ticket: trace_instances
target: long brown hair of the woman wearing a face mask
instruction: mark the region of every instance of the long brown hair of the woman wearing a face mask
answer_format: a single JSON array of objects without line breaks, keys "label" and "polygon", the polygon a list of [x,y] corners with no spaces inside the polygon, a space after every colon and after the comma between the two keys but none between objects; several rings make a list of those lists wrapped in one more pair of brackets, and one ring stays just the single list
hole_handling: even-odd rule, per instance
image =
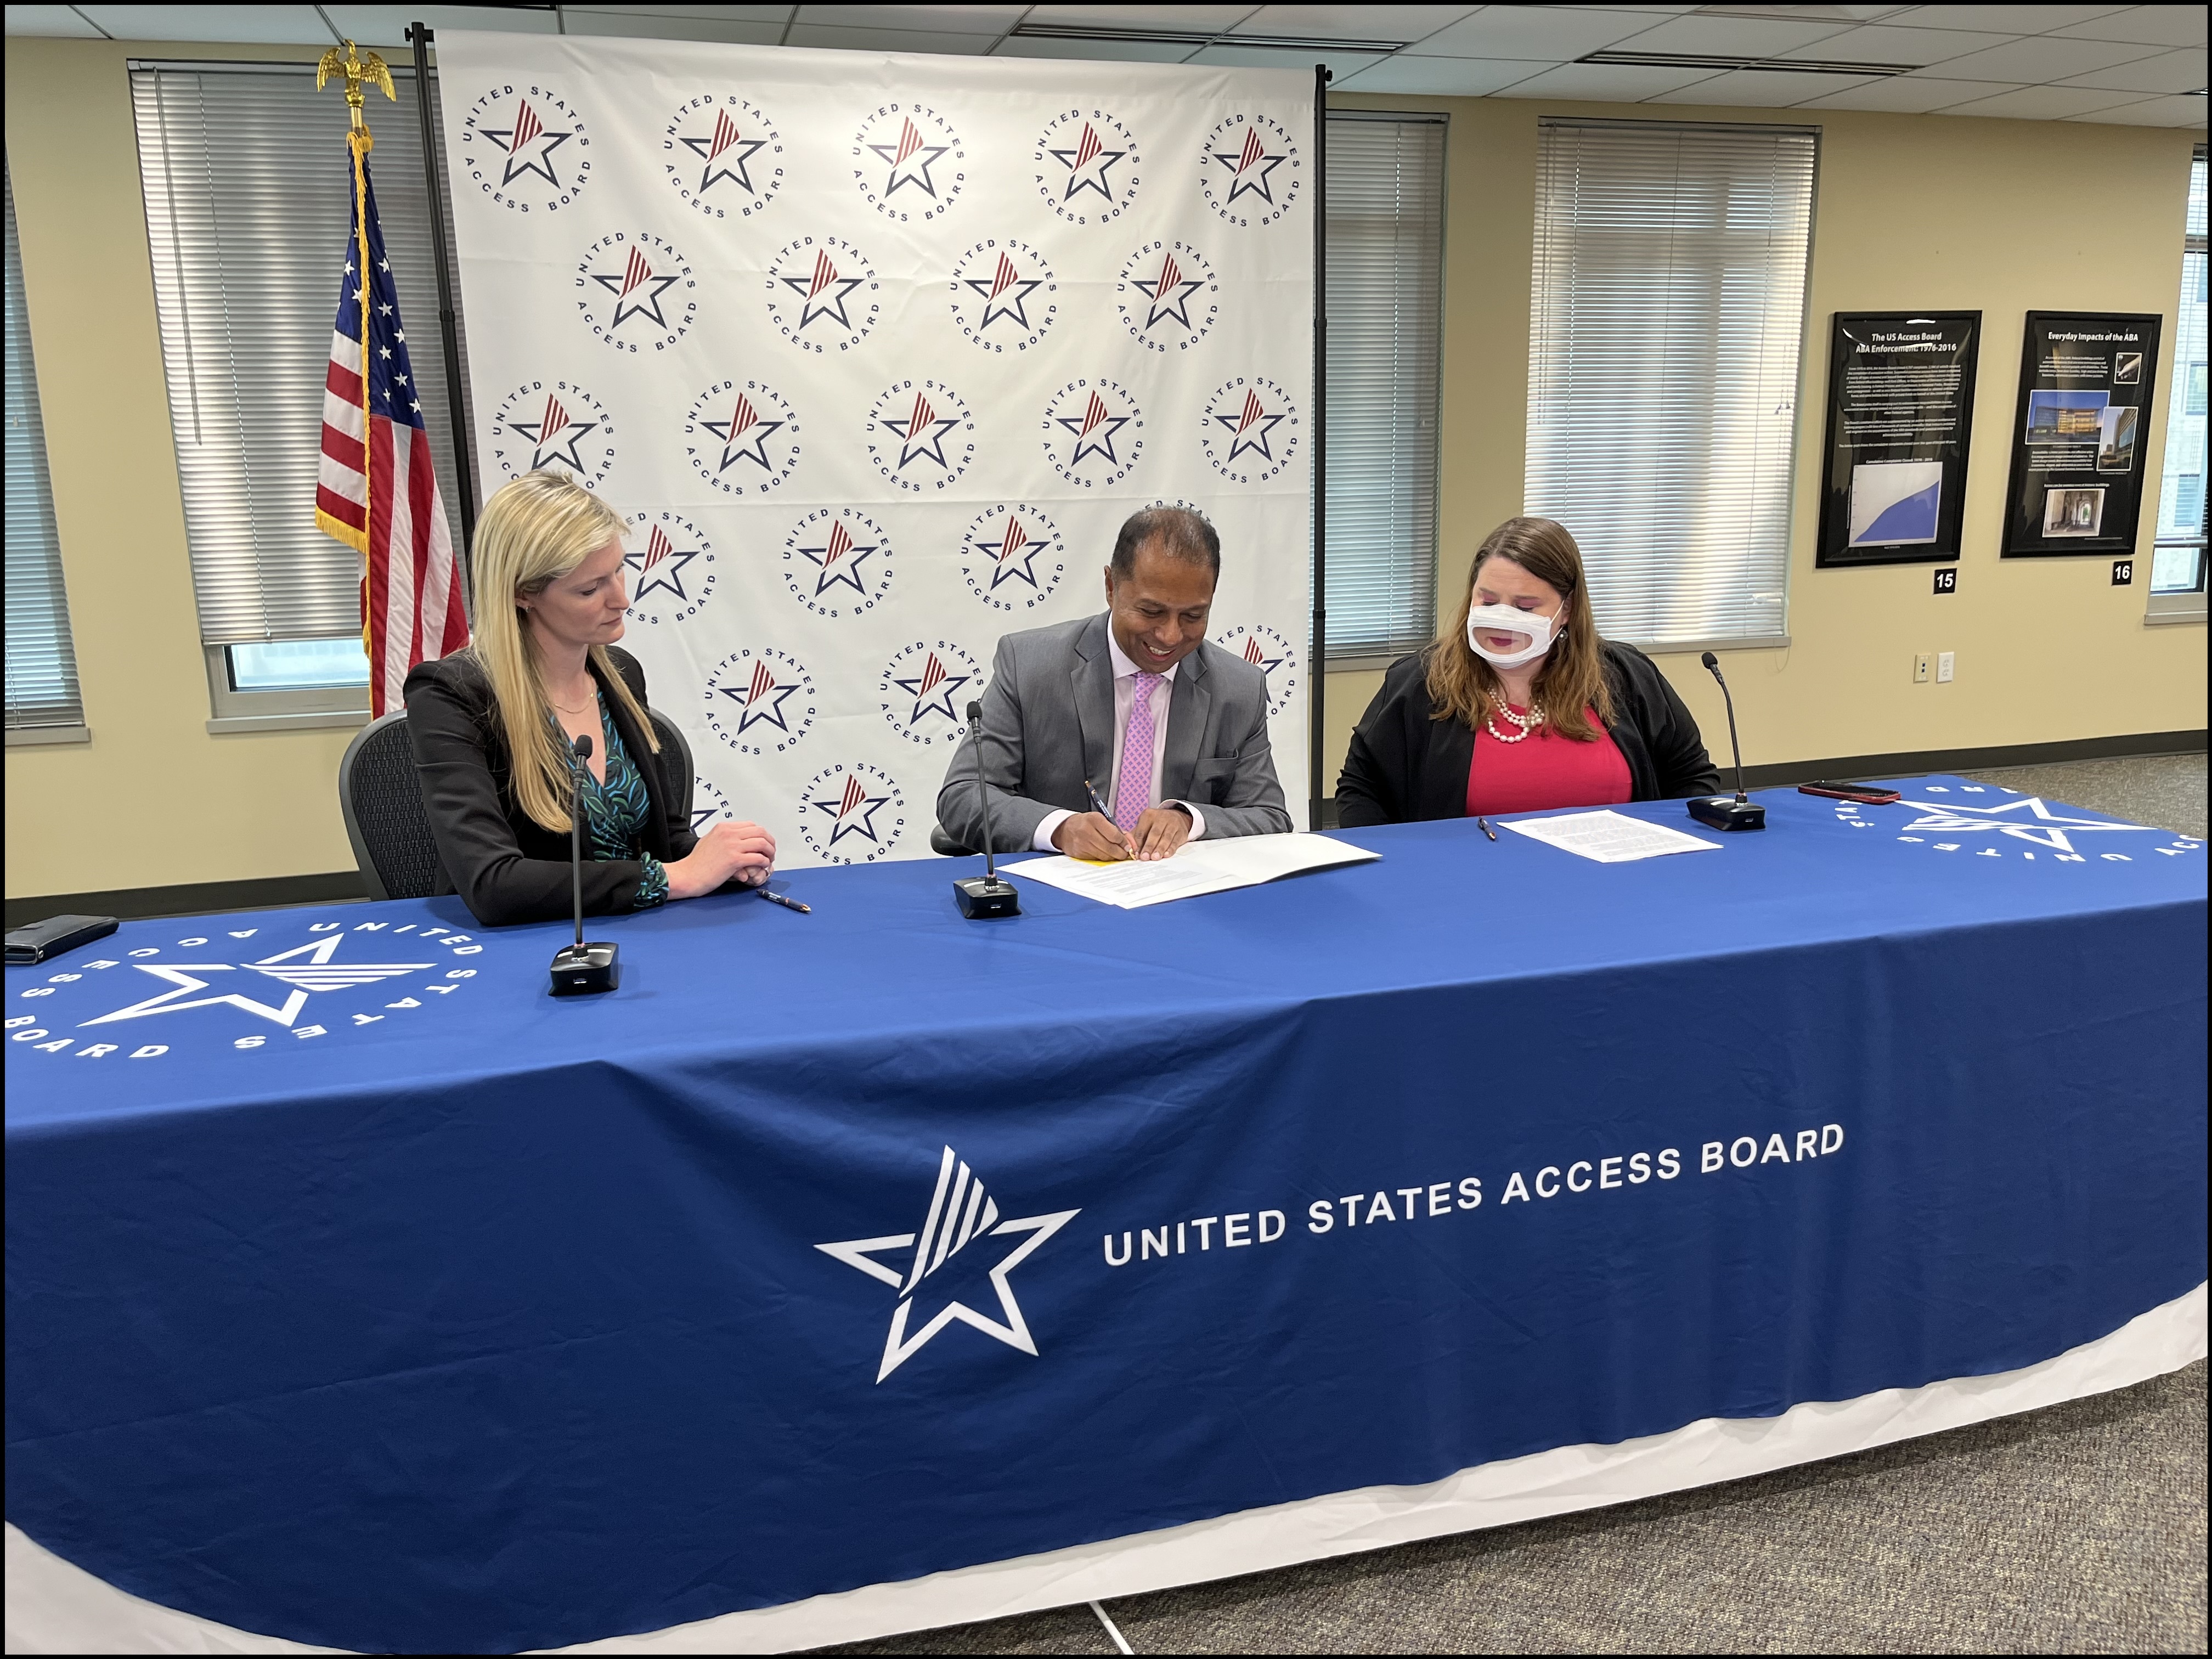
[{"label": "long brown hair of the woman wearing a face mask", "polygon": [[1513,560],[1537,582],[1548,584],[1566,606],[1557,617],[1551,650],[1535,670],[1535,699],[1544,703],[1544,723],[1559,737],[1595,743],[1588,710],[1613,717],[1613,692],[1606,688],[1604,650],[1597,622],[1590,617],[1590,591],[1582,580],[1582,549],[1564,524],[1548,518],[1509,518],[1475,549],[1467,568],[1467,593],[1451,624],[1429,646],[1429,719],[1455,719],[1480,726],[1502,701],[1498,670],[1467,644],[1467,613],[1475,606],[1475,582],[1491,560]]}]

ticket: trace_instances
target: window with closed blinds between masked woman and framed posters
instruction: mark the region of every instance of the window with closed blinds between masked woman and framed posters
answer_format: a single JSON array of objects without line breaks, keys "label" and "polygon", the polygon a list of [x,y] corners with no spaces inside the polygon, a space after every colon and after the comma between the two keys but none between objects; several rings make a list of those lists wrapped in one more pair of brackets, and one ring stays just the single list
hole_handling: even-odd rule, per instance
[{"label": "window with closed blinds between masked woman and framed posters", "polygon": [[1801,128],[1542,124],[1524,500],[1615,639],[1787,644],[1816,157]]}]

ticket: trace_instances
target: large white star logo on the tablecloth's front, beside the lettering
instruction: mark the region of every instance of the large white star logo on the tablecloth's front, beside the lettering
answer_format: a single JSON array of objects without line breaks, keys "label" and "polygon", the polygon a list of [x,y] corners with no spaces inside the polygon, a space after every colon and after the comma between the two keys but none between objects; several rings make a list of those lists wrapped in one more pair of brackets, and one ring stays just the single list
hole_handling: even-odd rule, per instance
[{"label": "large white star logo on the tablecloth's front, beside the lettering", "polygon": [[[891,1232],[880,1239],[843,1239],[814,1248],[896,1292],[898,1301],[891,1305],[891,1327],[883,1338],[883,1360],[876,1369],[876,1380],[883,1383],[891,1371],[920,1354],[931,1338],[956,1323],[1035,1356],[1037,1338],[1022,1316],[1020,1301],[1015,1301],[1013,1270],[1037,1254],[1077,1214],[1082,1210],[1002,1219],[998,1199],[984,1192],[982,1181],[967,1161],[947,1146],[938,1161],[936,1188],[929,1194],[929,1208],[922,1214],[918,1232]],[[956,1296],[933,1314],[927,1314],[918,1332],[907,1334],[914,1321],[916,1292],[931,1274],[942,1272],[964,1250],[1002,1250],[1004,1245],[991,1241],[1011,1239],[1020,1239],[1020,1243],[1006,1250],[987,1276],[998,1298],[998,1318],[969,1307]],[[878,1256],[887,1256],[889,1261],[878,1261]]]}]

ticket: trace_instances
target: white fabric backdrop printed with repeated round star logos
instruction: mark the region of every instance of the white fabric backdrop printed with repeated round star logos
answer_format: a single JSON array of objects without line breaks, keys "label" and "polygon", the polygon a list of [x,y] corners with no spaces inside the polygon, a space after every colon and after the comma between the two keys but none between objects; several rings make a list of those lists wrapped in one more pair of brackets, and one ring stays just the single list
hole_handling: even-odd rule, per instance
[{"label": "white fabric backdrop printed with repeated round star logos", "polygon": [[927,856],[998,637],[1170,502],[1303,823],[1310,77],[445,31],[438,75],[482,489],[630,524],[701,821]]}]

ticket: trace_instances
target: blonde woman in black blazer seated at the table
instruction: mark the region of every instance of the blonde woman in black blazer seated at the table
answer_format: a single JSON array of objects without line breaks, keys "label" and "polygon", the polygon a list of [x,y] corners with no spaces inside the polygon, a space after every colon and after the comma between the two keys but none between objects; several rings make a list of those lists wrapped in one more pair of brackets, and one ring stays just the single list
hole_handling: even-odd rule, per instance
[{"label": "blonde woman in black blazer seated at the table", "polygon": [[[476,524],[476,644],[407,675],[407,737],[447,891],[476,920],[568,916],[568,805],[584,781],[584,909],[611,916],[726,883],[759,887],[757,823],[695,836],[661,774],[646,675],[622,639],[622,520],[560,473],[526,473]],[[573,741],[591,739],[575,761]]]}]

